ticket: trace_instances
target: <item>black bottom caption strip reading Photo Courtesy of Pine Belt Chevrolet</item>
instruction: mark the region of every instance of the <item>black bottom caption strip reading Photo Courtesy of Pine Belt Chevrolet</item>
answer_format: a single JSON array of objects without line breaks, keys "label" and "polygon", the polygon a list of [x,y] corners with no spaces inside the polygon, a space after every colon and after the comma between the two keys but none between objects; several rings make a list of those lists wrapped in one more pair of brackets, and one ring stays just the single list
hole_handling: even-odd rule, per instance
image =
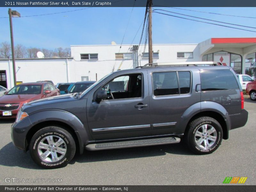
[{"label": "black bottom caption strip reading Photo Courtesy of Pine Belt Chevrolet", "polygon": [[1,192],[169,192],[169,191],[182,191],[182,192],[198,192],[198,191],[207,191],[207,192],[255,192],[255,186],[243,186],[243,185],[219,185],[219,186],[135,186],[135,185],[126,185],[126,186],[75,186],[75,185],[63,185],[63,186],[43,186],[43,185],[24,185],[24,186],[0,186]]}]

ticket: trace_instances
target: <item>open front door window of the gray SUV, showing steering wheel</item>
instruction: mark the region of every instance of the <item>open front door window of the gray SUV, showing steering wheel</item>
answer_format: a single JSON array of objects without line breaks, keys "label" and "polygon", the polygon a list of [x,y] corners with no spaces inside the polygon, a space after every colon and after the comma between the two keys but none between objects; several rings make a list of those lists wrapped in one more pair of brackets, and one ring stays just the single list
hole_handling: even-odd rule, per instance
[{"label": "open front door window of the gray SUV, showing steering wheel", "polygon": [[107,91],[108,100],[142,97],[142,75],[138,73],[116,77],[105,84],[102,90]]}]

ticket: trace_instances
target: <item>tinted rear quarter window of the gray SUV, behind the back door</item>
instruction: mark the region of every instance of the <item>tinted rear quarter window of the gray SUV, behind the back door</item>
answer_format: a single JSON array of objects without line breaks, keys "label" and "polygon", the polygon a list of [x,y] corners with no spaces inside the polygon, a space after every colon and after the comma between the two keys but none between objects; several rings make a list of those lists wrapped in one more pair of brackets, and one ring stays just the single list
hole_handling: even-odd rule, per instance
[{"label": "tinted rear quarter window of the gray SUV, behind the back door", "polygon": [[236,77],[229,69],[202,70],[200,73],[202,91],[239,89]]}]

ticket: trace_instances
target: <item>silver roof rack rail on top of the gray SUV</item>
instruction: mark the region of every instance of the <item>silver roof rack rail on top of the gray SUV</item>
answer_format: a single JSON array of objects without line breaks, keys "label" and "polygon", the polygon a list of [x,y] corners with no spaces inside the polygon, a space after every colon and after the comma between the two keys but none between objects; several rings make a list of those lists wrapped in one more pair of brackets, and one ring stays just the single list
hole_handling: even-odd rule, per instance
[{"label": "silver roof rack rail on top of the gray SUV", "polygon": [[198,62],[164,62],[164,63],[148,63],[144,67],[176,67],[176,66],[223,66],[221,62],[198,61]]}]

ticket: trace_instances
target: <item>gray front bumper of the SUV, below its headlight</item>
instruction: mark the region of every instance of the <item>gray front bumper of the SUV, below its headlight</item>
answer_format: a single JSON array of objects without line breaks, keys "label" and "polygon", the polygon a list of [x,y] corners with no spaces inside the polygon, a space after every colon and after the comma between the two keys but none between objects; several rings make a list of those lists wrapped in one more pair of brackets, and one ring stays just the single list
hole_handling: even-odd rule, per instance
[{"label": "gray front bumper of the SUV, below its headlight", "polygon": [[12,143],[19,149],[24,151],[27,150],[27,133],[32,127],[32,124],[29,120],[29,117],[22,119],[18,123],[13,123],[11,127],[11,136],[12,136]]}]

